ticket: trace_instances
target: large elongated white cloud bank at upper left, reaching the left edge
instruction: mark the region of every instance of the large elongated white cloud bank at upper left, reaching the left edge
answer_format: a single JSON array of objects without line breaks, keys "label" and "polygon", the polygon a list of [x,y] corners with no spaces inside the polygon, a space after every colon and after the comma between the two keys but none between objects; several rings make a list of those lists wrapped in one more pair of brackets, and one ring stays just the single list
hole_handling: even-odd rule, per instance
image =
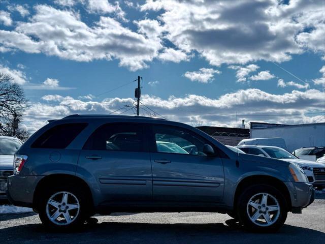
[{"label": "large elongated white cloud bank at upper left, reaching the left edge", "polygon": [[148,68],[146,62],[163,47],[159,38],[133,32],[110,17],[102,16],[89,27],[72,10],[36,5],[35,11],[13,31],[0,30],[1,49],[43,52],[79,62],[118,59],[120,66],[136,71]]}]

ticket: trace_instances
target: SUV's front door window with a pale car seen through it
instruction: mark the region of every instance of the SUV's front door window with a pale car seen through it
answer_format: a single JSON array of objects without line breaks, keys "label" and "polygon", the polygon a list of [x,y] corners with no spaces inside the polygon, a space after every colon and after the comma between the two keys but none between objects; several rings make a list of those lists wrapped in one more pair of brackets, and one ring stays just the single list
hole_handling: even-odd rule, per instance
[{"label": "SUV's front door window with a pale car seen through it", "polygon": [[203,153],[205,139],[187,130],[172,126],[153,126],[156,150],[158,153],[207,156]]}]

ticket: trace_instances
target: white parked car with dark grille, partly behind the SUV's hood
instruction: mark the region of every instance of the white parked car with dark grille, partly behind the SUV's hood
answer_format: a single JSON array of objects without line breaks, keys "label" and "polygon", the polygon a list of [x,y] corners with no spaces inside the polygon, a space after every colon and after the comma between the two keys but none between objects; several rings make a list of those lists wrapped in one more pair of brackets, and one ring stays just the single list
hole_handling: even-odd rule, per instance
[{"label": "white parked car with dark grille, partly behind the SUV's hood", "polygon": [[325,188],[325,165],[323,164],[299,159],[288,151],[276,146],[245,145],[237,146],[237,148],[240,148],[246,154],[269,157],[298,164],[305,171],[308,181],[314,187],[321,189]]}]

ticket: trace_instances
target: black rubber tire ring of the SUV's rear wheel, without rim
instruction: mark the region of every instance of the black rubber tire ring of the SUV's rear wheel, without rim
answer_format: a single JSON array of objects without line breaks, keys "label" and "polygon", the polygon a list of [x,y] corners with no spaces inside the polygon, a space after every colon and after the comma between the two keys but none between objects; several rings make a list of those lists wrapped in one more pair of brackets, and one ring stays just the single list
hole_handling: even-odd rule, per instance
[{"label": "black rubber tire ring of the SUV's rear wheel, without rim", "polygon": [[[73,219],[70,224],[66,225],[58,225],[53,223],[49,217],[47,216],[47,202],[48,200],[59,192],[69,192],[72,193],[79,201],[79,212],[78,215]],[[70,182],[64,185],[59,186],[50,186],[46,190],[43,190],[42,194],[40,194],[40,199],[38,203],[38,211],[39,217],[43,223],[43,225],[52,230],[59,230],[59,231],[70,231],[78,229],[87,218],[90,217],[89,209],[90,204],[87,200],[87,197],[84,194],[84,191],[80,189],[80,186],[76,186],[71,184]]]}]

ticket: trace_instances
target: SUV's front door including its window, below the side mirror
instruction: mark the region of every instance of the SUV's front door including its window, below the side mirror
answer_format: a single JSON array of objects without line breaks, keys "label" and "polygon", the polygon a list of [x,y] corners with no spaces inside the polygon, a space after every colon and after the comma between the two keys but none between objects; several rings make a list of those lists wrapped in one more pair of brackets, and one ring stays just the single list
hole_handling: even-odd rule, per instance
[{"label": "SUV's front door including its window, below the side mirror", "polygon": [[[209,141],[187,129],[153,125],[150,135],[153,199],[160,202],[220,202],[223,164],[203,153]],[[213,146],[213,145],[212,145]]]}]

